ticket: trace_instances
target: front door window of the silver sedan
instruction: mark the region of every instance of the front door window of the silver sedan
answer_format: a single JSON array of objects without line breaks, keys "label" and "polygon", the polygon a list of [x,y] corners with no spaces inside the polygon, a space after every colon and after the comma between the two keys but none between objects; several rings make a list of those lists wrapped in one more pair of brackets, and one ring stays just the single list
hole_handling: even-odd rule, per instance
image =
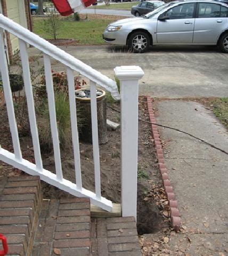
[{"label": "front door window of the silver sedan", "polygon": [[180,4],[168,11],[163,16],[168,16],[170,20],[176,19],[191,19],[193,18],[195,3]]}]

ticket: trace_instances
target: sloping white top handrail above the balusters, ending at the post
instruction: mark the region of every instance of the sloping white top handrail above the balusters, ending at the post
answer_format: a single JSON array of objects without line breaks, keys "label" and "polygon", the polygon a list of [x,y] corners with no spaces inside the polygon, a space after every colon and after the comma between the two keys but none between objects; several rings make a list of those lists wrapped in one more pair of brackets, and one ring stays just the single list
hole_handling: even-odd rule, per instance
[{"label": "sloping white top handrail above the balusters, ending at the post", "polygon": [[62,62],[67,67],[78,71],[80,74],[86,76],[94,83],[99,84],[105,90],[111,92],[111,95],[114,99],[120,99],[117,84],[109,77],[104,76],[99,71],[89,67],[82,61],[76,59],[67,52],[64,52],[59,47],[49,43],[45,39],[30,32],[28,29],[22,27],[18,23],[10,20],[2,14],[0,14],[0,28],[1,27],[22,39],[23,41],[35,46],[38,50],[46,53],[50,57]]}]

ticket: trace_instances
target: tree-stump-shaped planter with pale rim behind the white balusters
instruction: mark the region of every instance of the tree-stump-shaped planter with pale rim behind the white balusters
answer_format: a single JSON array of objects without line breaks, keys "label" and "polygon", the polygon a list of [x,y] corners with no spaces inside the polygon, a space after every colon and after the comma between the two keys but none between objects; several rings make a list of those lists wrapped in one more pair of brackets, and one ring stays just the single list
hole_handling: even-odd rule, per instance
[{"label": "tree-stump-shaped planter with pale rim behind the white balusters", "polygon": [[[88,89],[86,89],[88,90]],[[82,89],[76,90],[82,91]],[[101,96],[96,97],[96,106],[97,106],[97,126],[98,126],[98,139],[99,144],[104,144],[108,141],[107,134],[107,105],[106,105],[106,96],[103,90],[97,90],[102,92]],[[92,141],[92,120],[91,120],[91,100],[90,98],[79,98],[76,97],[77,105],[77,115],[80,116],[82,124],[78,126],[79,139],[93,143]]]}]

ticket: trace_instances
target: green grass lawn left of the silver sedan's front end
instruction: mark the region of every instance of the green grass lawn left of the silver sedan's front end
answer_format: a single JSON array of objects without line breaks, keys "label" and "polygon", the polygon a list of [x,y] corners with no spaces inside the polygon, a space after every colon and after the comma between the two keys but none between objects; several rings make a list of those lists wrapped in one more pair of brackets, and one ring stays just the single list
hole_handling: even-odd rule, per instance
[{"label": "green grass lawn left of the silver sedan's front end", "polygon": [[[85,19],[85,15],[81,15]],[[120,17],[109,17],[104,15],[87,15],[88,21],[74,21],[61,19],[58,38],[77,39],[78,44],[104,44],[102,33],[109,23],[120,19]],[[123,17],[122,17],[123,18]],[[44,28],[44,18],[33,18],[34,33],[45,38],[53,39],[52,35],[46,33]],[[57,39],[58,39],[57,38]]]}]

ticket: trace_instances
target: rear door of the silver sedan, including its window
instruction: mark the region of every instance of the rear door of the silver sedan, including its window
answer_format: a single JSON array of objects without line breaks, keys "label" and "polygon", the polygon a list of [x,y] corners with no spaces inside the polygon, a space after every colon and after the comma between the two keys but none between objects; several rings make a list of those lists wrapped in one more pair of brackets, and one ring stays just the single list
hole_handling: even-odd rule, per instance
[{"label": "rear door of the silver sedan, including its window", "polygon": [[228,8],[216,3],[198,3],[193,43],[217,43],[228,26]]}]

